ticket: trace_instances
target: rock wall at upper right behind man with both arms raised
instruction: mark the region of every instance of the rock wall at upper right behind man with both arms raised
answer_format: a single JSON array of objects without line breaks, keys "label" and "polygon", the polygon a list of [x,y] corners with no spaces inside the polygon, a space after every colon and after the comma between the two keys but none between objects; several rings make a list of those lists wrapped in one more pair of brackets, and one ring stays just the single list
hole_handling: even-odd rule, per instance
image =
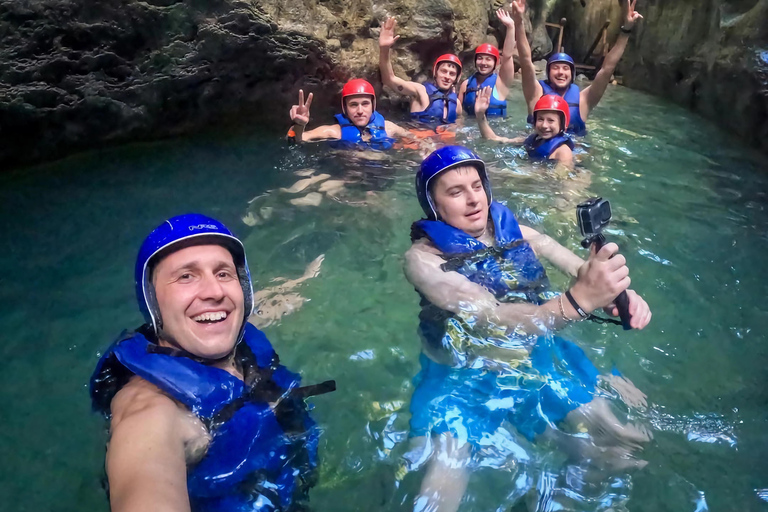
[{"label": "rock wall at upper right behind man with both arms raised", "polygon": [[[562,0],[566,50],[585,51],[605,20],[621,24],[616,0]],[[768,0],[640,0],[638,23],[617,74],[635,89],[670,98],[768,152]],[[577,57],[583,57],[577,55]]]}]

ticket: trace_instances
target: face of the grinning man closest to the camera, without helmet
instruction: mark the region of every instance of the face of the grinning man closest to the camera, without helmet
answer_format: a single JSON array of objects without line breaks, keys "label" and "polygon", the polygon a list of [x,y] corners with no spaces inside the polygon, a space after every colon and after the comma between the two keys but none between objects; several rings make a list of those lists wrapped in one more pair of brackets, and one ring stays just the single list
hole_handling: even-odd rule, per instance
[{"label": "face of the grinning man closest to the camera, without helmet", "polygon": [[194,245],[175,251],[160,260],[152,281],[162,319],[161,345],[205,359],[219,359],[232,351],[245,305],[227,249]]}]

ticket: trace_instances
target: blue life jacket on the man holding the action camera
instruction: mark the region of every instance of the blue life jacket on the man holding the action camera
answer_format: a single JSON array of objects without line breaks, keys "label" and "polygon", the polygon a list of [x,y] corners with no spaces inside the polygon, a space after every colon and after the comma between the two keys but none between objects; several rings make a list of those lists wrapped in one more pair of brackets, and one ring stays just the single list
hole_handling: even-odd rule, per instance
[{"label": "blue life jacket on the man holding the action camera", "polygon": [[[488,247],[442,221],[432,220],[415,222],[411,227],[411,239],[428,238],[443,253],[446,260],[443,271],[460,273],[491,292],[499,302],[545,302],[549,299],[549,279],[533,249],[523,240],[515,215],[506,206],[493,202],[490,216],[496,238],[494,247]],[[457,315],[435,306],[424,295],[421,295],[421,308],[419,333],[425,348],[433,356],[445,354],[450,360],[444,364],[460,366],[466,362],[457,344],[462,345],[467,340],[485,343]],[[514,336],[509,342],[516,346],[520,344]]]}]

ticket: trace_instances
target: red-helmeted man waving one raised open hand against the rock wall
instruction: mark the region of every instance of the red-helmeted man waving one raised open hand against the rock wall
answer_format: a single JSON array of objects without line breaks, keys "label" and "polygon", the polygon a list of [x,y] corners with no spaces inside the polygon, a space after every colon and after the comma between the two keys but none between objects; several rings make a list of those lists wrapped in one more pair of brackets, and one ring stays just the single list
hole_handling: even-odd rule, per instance
[{"label": "red-helmeted man waving one raised open hand against the rock wall", "polygon": [[433,80],[420,84],[395,76],[390,61],[390,48],[400,36],[395,35],[397,21],[387,18],[379,34],[379,70],[384,85],[408,96],[411,100],[411,117],[426,124],[455,123],[461,114],[456,85],[461,79],[461,60],[447,53],[435,60],[432,66]]}]

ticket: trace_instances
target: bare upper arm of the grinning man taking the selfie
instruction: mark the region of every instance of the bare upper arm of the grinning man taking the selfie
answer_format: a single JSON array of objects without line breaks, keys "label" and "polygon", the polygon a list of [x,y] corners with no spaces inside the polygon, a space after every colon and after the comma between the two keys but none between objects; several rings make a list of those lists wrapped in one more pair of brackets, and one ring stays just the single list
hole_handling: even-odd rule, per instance
[{"label": "bare upper arm of the grinning man taking the selfie", "polygon": [[111,509],[189,512],[182,414],[150,386],[132,381],[112,400],[106,462]]}]

